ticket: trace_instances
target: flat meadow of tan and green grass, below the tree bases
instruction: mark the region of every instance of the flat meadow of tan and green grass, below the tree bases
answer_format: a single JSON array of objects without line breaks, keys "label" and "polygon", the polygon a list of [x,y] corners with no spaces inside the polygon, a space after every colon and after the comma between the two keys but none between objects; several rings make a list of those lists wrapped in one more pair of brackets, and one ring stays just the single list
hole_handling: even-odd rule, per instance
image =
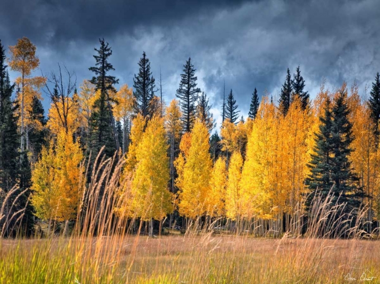
[{"label": "flat meadow of tan and green grass, below the tree bases", "polygon": [[3,240],[1,283],[379,283],[380,242],[250,236]]}]

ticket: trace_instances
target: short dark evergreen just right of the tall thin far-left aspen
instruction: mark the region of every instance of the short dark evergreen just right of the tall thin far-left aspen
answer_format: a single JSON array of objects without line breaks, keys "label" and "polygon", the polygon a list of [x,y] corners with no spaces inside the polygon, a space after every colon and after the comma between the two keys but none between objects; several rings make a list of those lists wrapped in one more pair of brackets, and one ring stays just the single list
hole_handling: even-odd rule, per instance
[{"label": "short dark evergreen just right of the tall thin far-left aspen", "polygon": [[47,121],[44,113],[45,110],[42,106],[41,101],[34,96],[29,116],[33,121],[37,122],[37,124],[42,125],[42,128],[33,127],[28,133],[29,151],[32,154],[32,163],[37,160],[39,154],[41,153],[42,146],[46,145],[46,136],[48,133],[47,129],[45,128]]}]

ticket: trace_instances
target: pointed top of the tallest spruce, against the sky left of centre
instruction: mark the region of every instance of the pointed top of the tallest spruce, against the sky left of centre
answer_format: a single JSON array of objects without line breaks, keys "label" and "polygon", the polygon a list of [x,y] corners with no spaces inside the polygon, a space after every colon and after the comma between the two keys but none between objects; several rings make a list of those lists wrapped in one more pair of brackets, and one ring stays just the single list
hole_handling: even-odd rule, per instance
[{"label": "pointed top of the tallest spruce, against the sky left of centre", "polygon": [[105,42],[104,38],[99,38],[99,41],[100,49],[94,49],[98,53],[94,55],[96,60],[95,67],[89,68],[96,76],[92,77],[90,82],[95,84],[96,90],[100,89],[102,93],[105,93],[107,90],[116,91],[113,85],[119,83],[119,79],[116,79],[115,76],[107,75],[108,71],[115,70],[112,64],[107,61],[108,57],[112,55],[111,48],[108,47],[108,42]]}]

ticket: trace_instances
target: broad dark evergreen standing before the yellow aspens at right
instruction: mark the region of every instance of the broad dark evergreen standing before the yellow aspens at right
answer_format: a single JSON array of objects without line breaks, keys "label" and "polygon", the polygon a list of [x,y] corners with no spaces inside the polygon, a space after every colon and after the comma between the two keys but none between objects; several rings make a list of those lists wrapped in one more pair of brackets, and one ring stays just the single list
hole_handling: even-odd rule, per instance
[{"label": "broad dark evergreen standing before the yellow aspens at right", "polygon": [[313,191],[318,188],[323,198],[332,188],[333,202],[339,198],[339,203],[347,203],[344,212],[350,213],[358,209],[364,195],[362,188],[357,186],[358,178],[349,160],[354,135],[349,121],[346,87],[339,90],[332,108],[330,100],[326,100],[319,132],[315,134],[315,154],[309,164],[311,174],[306,183]]}]

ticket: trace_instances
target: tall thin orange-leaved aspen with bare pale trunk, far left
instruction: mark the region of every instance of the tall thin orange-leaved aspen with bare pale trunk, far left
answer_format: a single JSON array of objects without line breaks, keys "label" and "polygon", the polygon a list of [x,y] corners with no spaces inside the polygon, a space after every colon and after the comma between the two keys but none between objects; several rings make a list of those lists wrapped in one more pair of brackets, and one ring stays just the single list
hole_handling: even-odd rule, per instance
[{"label": "tall thin orange-leaved aspen with bare pale trunk, far left", "polygon": [[[25,139],[27,138],[28,126],[27,114],[30,113],[33,97],[41,99],[39,89],[45,84],[46,79],[41,76],[33,77],[32,71],[39,67],[40,59],[35,55],[35,45],[27,38],[19,38],[17,44],[9,46],[11,58],[9,66],[13,71],[19,72],[20,77],[16,78],[16,84],[21,87],[17,92],[17,100],[20,103],[20,134],[21,153],[25,150]],[[26,140],[27,141],[27,140]],[[26,145],[28,147],[28,145]]]}]

